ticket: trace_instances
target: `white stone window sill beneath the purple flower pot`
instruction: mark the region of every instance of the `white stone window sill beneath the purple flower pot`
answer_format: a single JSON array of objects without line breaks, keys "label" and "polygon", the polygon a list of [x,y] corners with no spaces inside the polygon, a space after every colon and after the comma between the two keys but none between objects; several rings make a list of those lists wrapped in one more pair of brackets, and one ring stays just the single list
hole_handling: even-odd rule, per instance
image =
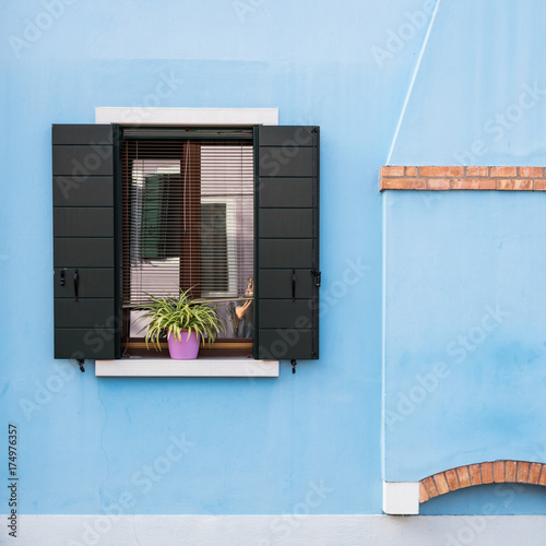
[{"label": "white stone window sill beneath the purple flower pot", "polygon": [[123,358],[96,360],[96,377],[278,377],[278,360],[252,358]]}]

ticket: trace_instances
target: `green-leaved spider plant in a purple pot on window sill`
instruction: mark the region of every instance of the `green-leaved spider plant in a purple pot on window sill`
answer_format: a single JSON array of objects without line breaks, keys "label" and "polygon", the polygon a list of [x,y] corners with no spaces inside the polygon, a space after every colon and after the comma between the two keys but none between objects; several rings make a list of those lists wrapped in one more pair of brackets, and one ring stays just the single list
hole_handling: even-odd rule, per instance
[{"label": "green-leaved spider plant in a purple pot on window sill", "polygon": [[169,294],[156,297],[149,294],[150,302],[139,309],[145,311],[138,320],[147,320],[145,329],[146,347],[150,341],[161,349],[159,339],[167,336],[170,358],[191,360],[197,358],[201,340],[209,345],[224,331],[224,322],[216,313],[216,307],[201,299],[191,299],[189,292],[179,296]]}]

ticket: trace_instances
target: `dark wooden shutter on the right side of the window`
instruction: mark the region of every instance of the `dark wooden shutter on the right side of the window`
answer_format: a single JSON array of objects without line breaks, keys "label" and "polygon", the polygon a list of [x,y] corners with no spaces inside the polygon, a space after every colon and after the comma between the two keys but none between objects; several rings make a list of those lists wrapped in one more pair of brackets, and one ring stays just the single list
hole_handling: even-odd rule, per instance
[{"label": "dark wooden shutter on the right side of the window", "polygon": [[319,357],[319,128],[257,127],[254,358]]}]

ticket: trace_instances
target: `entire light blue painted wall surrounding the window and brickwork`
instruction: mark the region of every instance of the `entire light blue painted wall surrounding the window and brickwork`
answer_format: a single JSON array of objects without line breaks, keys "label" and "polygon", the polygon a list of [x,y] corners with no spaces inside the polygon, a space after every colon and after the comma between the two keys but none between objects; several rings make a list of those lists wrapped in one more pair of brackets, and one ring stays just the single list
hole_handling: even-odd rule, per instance
[{"label": "entire light blue painted wall surrounding the window and brickwork", "polygon": [[[22,513],[380,513],[382,478],[546,461],[546,198],[378,192],[430,2],[82,0],[28,34],[46,4],[10,3],[0,21],[0,394],[2,426],[19,427]],[[546,84],[543,48],[531,47],[545,39],[544,7],[512,5],[441,0],[391,163],[455,164],[458,146],[491,139],[484,122],[523,84]],[[416,12],[423,24],[389,51]],[[165,80],[171,93],[151,104]],[[277,107],[283,124],[321,127],[320,360],[295,376],[283,363],[271,380],[100,379],[54,360],[50,126],[145,105]],[[537,99],[476,163],[542,164],[545,107]],[[450,370],[384,434],[383,286],[387,410],[435,363]],[[486,306],[509,316],[456,364],[447,345]],[[317,488],[320,502],[306,503]],[[514,512],[544,511],[529,489]],[[458,513],[468,497],[458,498],[427,510]]]}]

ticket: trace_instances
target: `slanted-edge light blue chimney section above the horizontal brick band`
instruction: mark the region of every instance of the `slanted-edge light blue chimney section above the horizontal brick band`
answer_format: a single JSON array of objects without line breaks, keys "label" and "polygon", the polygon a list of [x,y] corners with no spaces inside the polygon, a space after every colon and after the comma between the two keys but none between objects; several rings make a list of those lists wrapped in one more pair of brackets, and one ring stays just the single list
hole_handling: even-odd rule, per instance
[{"label": "slanted-edge light blue chimney section above the horizontal brick band", "polygon": [[440,0],[389,163],[543,165],[545,19],[534,0]]}]

